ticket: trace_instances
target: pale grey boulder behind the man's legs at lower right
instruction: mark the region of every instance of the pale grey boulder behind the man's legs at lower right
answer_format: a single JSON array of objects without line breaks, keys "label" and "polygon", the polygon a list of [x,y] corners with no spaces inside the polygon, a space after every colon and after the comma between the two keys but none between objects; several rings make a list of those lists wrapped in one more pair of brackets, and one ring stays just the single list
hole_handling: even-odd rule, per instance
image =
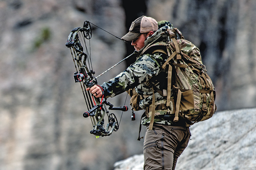
[{"label": "pale grey boulder behind the man's legs at lower right", "polygon": [[[191,127],[191,141],[176,170],[255,170],[256,109],[216,112]],[[115,163],[114,170],[143,170],[143,155]]]}]

